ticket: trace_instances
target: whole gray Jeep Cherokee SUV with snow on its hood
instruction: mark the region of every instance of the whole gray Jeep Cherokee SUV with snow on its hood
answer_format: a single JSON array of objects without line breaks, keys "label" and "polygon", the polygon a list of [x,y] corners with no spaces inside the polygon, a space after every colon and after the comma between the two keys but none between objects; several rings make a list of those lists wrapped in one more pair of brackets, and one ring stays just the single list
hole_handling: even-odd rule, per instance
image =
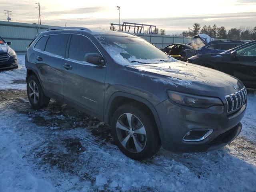
[{"label": "whole gray Jeep Cherokee SUV with snow on its hood", "polygon": [[54,98],[97,117],[135,160],[161,146],[216,150],[242,128],[247,92],[240,80],[175,60],[133,34],[50,28],[30,44],[25,63],[34,108]]}]

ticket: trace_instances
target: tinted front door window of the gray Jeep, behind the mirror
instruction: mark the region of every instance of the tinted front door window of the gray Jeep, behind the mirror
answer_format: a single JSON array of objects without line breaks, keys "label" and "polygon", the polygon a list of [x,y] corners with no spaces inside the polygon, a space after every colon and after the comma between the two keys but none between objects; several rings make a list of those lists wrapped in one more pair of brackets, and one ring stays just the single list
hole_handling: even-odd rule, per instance
[{"label": "tinted front door window of the gray Jeep, behind the mirror", "polygon": [[68,58],[83,62],[85,61],[84,56],[86,53],[100,52],[90,39],[82,35],[72,35],[69,44]]}]

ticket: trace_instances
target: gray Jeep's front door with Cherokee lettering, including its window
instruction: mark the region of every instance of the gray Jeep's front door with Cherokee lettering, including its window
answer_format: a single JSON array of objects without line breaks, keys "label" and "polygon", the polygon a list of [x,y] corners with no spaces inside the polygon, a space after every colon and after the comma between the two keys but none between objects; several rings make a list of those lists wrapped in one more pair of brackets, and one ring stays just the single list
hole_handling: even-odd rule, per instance
[{"label": "gray Jeep's front door with Cherokee lettering, including its window", "polygon": [[62,68],[64,99],[101,116],[104,110],[106,66],[86,62],[86,53],[100,54],[88,37],[72,34]]}]

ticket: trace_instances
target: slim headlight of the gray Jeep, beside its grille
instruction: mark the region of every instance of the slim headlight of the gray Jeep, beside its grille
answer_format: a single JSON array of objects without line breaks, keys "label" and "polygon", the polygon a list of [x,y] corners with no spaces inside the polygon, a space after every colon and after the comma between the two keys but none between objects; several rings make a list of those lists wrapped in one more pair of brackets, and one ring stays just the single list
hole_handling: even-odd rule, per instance
[{"label": "slim headlight of the gray Jeep, beside its grille", "polygon": [[174,92],[168,90],[169,98],[178,104],[197,107],[197,108],[208,108],[215,105],[223,105],[222,101],[216,97],[204,97],[197,95],[190,95],[180,92]]}]

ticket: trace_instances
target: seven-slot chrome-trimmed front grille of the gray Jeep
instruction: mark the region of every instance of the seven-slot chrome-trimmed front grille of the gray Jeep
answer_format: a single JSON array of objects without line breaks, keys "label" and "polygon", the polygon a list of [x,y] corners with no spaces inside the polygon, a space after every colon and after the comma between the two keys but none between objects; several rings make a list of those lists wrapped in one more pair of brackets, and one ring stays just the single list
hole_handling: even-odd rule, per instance
[{"label": "seven-slot chrome-trimmed front grille of the gray Jeep", "polygon": [[238,92],[231,95],[226,95],[225,100],[227,102],[227,112],[234,112],[241,108],[246,102],[247,90],[243,87]]}]

